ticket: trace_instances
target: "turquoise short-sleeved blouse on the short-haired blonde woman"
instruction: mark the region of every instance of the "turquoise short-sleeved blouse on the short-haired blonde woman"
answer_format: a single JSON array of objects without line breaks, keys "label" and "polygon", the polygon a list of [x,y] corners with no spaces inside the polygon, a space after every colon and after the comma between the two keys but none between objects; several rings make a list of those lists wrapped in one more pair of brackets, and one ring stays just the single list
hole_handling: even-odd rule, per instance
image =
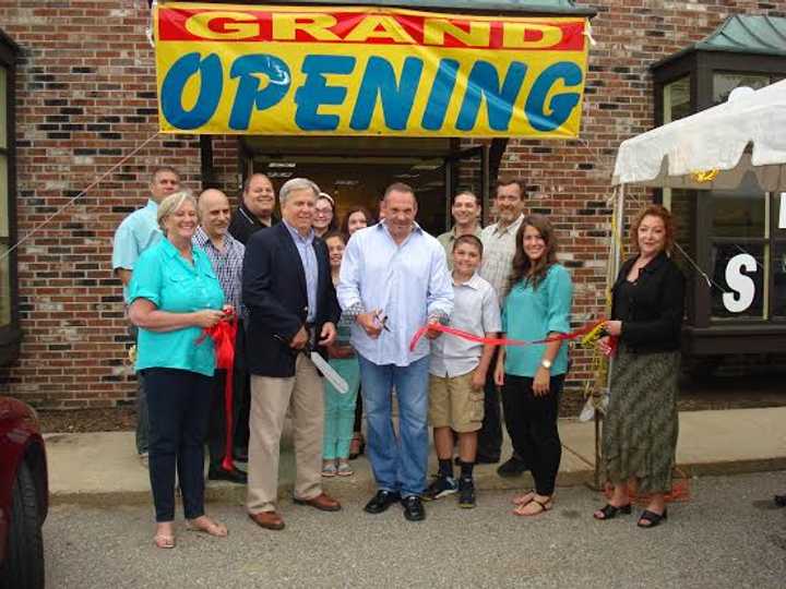
[{"label": "turquoise short-sleeved blouse on the short-haired blonde woman", "polygon": [[[207,254],[199,248],[192,251],[193,266],[166,239],[148,248],[140,256],[131,276],[129,301],[147,299],[159,311],[170,313],[221,309],[224,292]],[[213,340],[206,337],[198,345],[201,335],[200,327],[175,332],[151,332],[140,327],[136,370],[172,368],[213,376]]]}]

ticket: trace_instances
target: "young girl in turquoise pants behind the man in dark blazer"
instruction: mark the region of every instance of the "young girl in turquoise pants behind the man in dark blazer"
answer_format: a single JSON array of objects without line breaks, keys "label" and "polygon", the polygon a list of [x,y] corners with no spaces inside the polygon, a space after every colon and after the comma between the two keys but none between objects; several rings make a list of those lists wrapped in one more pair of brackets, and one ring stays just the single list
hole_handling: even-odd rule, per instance
[{"label": "young girl in turquoise pants behind the man in dark blazer", "polygon": [[[346,240],[338,231],[324,237],[330,256],[333,284],[338,284],[342,257],[346,248]],[[353,318],[342,317],[338,322],[338,336],[335,342],[327,348],[330,363],[335,371],[349,385],[347,393],[340,393],[325,381],[324,393],[324,437],[322,444],[322,476],[348,477],[353,474],[349,467],[349,443],[353,438],[353,424],[355,422],[355,401],[360,386],[360,365],[355,350],[349,345],[349,327]]]}]

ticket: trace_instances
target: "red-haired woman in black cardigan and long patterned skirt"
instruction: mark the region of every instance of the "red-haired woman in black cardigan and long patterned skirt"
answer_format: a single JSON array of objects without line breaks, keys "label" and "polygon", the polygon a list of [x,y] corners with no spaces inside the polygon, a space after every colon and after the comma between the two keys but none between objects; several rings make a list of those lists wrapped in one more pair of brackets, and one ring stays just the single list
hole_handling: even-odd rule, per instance
[{"label": "red-haired woman in black cardigan and long patterned skirt", "polygon": [[[603,468],[614,484],[596,519],[631,513],[629,483],[650,494],[639,527],[667,517],[677,448],[677,381],[684,312],[684,277],[669,257],[674,243],[670,213],[650,205],[632,226],[638,254],[628,260],[614,286],[606,332],[619,338],[611,369],[609,408],[604,420]],[[600,348],[609,353],[608,337]]]}]

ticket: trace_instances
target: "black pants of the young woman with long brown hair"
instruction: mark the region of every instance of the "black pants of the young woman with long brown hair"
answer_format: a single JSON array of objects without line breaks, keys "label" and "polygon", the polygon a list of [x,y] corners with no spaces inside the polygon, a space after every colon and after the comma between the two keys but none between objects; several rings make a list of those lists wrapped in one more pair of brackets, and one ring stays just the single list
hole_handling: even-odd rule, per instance
[{"label": "black pants of the young woman with long brown hair", "polygon": [[505,374],[502,406],[515,452],[529,468],[538,495],[551,495],[562,458],[557,429],[564,374],[551,376],[549,392],[536,397],[533,378]]}]

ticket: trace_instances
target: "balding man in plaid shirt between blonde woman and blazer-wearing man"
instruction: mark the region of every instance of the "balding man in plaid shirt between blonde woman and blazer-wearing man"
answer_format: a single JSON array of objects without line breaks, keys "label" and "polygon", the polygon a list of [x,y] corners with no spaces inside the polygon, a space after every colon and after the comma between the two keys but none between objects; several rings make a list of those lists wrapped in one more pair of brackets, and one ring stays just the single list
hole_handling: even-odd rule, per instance
[{"label": "balding man in plaid shirt between blonde woman and blazer-wearing man", "polygon": [[[231,237],[227,230],[230,217],[229,199],[219,190],[207,189],[200,194],[199,209],[201,226],[194,233],[193,243],[207,254],[218,283],[221,283],[224,290],[225,302],[233,305],[235,313],[242,321],[240,290],[242,288],[242,260],[246,248]],[[238,325],[238,329],[242,329],[242,325]],[[216,370],[213,410],[211,411],[211,423],[207,430],[207,448],[210,450],[207,479],[245,484],[246,472],[238,469],[226,470],[222,467],[226,450],[233,452],[233,448],[226,447],[225,382],[226,371]],[[248,378],[246,378],[243,371],[236,364],[233,395],[235,405],[233,423],[235,423],[235,430],[238,426],[242,428],[238,423],[238,419],[242,419],[240,401],[242,400],[242,387],[247,382]],[[248,417],[246,419],[248,420]],[[248,428],[248,424],[246,426]],[[233,432],[233,438],[235,438],[235,432]]]}]

